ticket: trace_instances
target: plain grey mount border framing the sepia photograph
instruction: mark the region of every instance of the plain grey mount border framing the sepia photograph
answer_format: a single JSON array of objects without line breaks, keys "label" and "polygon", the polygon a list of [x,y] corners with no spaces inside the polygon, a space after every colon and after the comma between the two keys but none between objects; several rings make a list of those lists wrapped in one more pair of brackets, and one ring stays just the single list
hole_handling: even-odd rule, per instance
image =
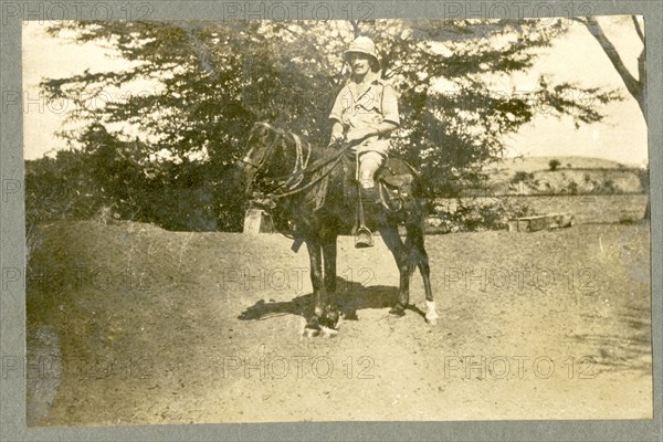
[{"label": "plain grey mount border framing the sepia photograph", "polygon": [[[252,9],[252,15],[238,17],[238,9],[230,4],[245,7],[249,1],[213,0],[162,0],[162,1],[4,1],[0,0],[2,21],[0,25],[0,179],[3,183],[0,200],[0,267],[25,267],[25,225],[23,199],[23,118],[22,106],[8,106],[6,93],[22,91],[21,23],[24,20],[87,20],[83,8],[76,4],[104,4],[113,19],[124,20],[209,20],[259,17],[260,9]],[[292,8],[301,17],[290,19],[314,19],[308,17],[315,4],[330,6],[335,19],[344,19],[348,7],[367,6],[373,18],[439,18],[441,20],[480,18],[482,11],[508,11],[518,18],[523,9],[515,6],[538,6],[524,11],[536,11],[534,17],[569,17],[591,12],[592,15],[642,14],[646,41],[648,64],[648,115],[649,115],[649,166],[651,204],[651,275],[652,275],[652,348],[653,352],[653,398],[652,420],[592,420],[592,421],[454,421],[454,422],[302,422],[302,423],[232,423],[232,424],[168,424],[126,425],[103,428],[27,428],[25,386],[22,378],[6,379],[0,376],[0,441],[207,441],[207,440],[633,440],[660,441],[663,431],[662,420],[662,172],[663,172],[663,9],[659,0],[617,1],[262,1],[265,10],[270,6],[301,4],[306,8]],[[61,4],[63,7],[53,7]],[[252,3],[255,6],[255,3]],[[496,6],[507,6],[506,9]],[[546,7],[541,7],[541,6]],[[511,6],[511,7],[509,7]],[[345,9],[344,9],[345,8]],[[460,9],[459,9],[460,8]],[[482,9],[483,8],[483,9]],[[90,11],[90,9],[87,9]],[[281,9],[283,10],[283,9]],[[319,10],[319,8],[318,8]],[[345,12],[344,12],[345,11]],[[235,15],[229,17],[230,13]],[[337,14],[338,12],[338,14]],[[449,14],[453,12],[453,17]],[[49,14],[52,14],[49,17]],[[81,15],[83,14],[83,15]],[[501,15],[503,17],[503,15]],[[278,17],[281,18],[281,17]],[[355,17],[358,18],[358,17]],[[484,17],[488,18],[488,17]],[[654,148],[657,147],[657,148]],[[12,194],[4,192],[4,183],[17,183]],[[655,350],[659,348],[659,350]],[[2,286],[0,292],[0,355],[25,355],[25,294],[14,286]]]}]

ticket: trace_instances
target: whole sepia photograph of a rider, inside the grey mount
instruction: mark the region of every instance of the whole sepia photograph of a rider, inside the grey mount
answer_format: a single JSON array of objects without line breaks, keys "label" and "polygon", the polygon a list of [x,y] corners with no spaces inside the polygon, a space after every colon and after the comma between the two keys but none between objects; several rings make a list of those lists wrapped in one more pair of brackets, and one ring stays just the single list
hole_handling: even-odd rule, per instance
[{"label": "whole sepia photograph of a rider, inside the grey mount", "polygon": [[28,427],[654,417],[646,18],[349,4],[22,22]]}]

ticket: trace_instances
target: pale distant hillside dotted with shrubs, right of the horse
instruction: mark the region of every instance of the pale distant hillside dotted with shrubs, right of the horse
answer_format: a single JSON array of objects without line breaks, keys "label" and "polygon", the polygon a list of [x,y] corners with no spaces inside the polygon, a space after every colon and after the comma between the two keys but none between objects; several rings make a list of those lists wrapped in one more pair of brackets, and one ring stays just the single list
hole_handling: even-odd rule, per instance
[{"label": "pale distant hillside dotted with shrubs, right of the horse", "polygon": [[[549,162],[559,166],[550,170]],[[504,193],[641,193],[641,172],[634,165],[588,157],[506,158],[484,168],[493,194]]]}]

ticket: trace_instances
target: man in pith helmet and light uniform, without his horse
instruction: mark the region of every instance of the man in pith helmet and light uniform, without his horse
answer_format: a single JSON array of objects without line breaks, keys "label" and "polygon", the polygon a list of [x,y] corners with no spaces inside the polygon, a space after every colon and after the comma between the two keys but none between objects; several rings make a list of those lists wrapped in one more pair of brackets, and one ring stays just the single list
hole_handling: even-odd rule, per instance
[{"label": "man in pith helmet and light uniform, without his horse", "polygon": [[[357,38],[344,57],[350,65],[351,75],[329,114],[334,120],[329,145],[339,141],[351,145],[350,151],[357,156],[359,198],[375,203],[379,201],[375,175],[388,157],[389,134],[400,124],[398,96],[380,77],[380,61],[372,40]],[[362,211],[361,204],[359,210]]]}]

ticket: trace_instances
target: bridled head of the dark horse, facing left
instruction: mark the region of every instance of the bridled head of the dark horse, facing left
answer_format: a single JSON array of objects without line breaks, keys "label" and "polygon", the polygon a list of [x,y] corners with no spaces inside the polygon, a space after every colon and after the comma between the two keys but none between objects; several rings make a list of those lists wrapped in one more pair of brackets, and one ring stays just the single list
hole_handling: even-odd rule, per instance
[{"label": "bridled head of the dark horse, facing left", "polygon": [[244,179],[244,192],[251,196],[251,188],[257,176],[265,177],[271,172],[277,172],[273,166],[275,154],[284,144],[282,130],[272,127],[267,123],[259,122],[253,125],[249,133],[249,140],[239,167]]}]

